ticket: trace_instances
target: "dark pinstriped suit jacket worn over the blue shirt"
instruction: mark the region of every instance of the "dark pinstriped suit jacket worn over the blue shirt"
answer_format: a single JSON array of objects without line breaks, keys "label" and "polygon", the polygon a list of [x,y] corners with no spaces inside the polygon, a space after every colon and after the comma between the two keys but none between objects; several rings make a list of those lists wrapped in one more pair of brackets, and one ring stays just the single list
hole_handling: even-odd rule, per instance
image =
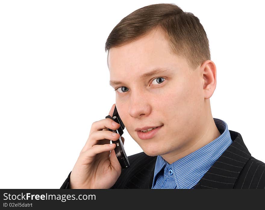
[{"label": "dark pinstriped suit jacket worn over the blue shirt", "polygon": [[[232,130],[229,132],[232,144],[194,189],[265,189],[265,164],[251,156],[240,133]],[[157,156],[152,157],[141,152],[129,156],[128,159],[130,167],[122,169],[120,177],[111,189],[151,189]],[[60,189],[68,188],[70,174]]]}]

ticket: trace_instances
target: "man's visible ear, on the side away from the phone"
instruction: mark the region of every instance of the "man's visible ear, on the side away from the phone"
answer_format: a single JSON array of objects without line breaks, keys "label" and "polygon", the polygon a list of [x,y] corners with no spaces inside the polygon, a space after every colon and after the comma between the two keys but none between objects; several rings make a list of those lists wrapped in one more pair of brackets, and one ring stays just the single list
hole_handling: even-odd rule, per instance
[{"label": "man's visible ear, on the side away from the phone", "polygon": [[204,99],[209,99],[216,87],[216,66],[213,61],[207,60],[201,64],[201,72],[204,80]]}]

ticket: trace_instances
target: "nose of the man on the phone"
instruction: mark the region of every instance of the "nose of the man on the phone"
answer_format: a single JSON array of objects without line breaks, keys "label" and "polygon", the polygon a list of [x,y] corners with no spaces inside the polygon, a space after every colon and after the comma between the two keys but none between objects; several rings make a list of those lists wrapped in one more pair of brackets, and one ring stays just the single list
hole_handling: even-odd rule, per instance
[{"label": "nose of the man on the phone", "polygon": [[147,94],[142,92],[134,91],[131,94],[130,105],[129,105],[129,114],[133,118],[139,118],[140,116],[148,116],[151,112],[150,100],[147,97]]}]

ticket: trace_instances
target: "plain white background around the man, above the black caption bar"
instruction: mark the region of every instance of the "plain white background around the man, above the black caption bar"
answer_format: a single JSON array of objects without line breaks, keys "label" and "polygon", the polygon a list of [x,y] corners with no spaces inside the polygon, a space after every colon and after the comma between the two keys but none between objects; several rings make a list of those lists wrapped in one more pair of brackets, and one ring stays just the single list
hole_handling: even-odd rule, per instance
[{"label": "plain white background around the man, above the black caption bar", "polygon": [[[264,155],[262,1],[1,1],[0,188],[60,188],[89,135],[115,103],[106,39],[146,5],[175,3],[207,33],[217,87],[214,118]],[[127,155],[142,152],[124,133]]]}]

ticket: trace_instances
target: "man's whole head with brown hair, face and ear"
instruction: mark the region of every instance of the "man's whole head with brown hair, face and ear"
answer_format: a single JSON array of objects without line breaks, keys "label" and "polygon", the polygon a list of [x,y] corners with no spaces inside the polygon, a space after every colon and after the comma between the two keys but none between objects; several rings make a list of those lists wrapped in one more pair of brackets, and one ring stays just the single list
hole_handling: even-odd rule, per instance
[{"label": "man's whole head with brown hair, face and ear", "polygon": [[[173,4],[140,8],[112,30],[106,50],[117,110],[143,151],[172,157],[199,145],[213,122],[216,68],[198,18]],[[158,128],[145,139],[144,127]]]}]

